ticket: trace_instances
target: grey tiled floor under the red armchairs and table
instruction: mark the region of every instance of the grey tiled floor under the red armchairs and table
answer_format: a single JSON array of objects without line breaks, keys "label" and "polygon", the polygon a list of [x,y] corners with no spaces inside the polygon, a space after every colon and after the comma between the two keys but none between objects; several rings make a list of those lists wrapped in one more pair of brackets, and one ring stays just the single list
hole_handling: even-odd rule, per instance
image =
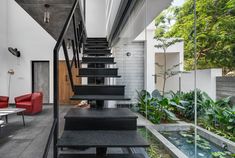
[{"label": "grey tiled floor under the red armchairs and table", "polygon": [[[63,129],[63,116],[69,108],[60,108],[60,131]],[[42,158],[53,122],[52,110],[52,105],[45,105],[42,113],[25,116],[25,127],[20,115],[10,115],[8,125],[0,133],[0,158]],[[48,158],[51,157],[50,150]]]}]

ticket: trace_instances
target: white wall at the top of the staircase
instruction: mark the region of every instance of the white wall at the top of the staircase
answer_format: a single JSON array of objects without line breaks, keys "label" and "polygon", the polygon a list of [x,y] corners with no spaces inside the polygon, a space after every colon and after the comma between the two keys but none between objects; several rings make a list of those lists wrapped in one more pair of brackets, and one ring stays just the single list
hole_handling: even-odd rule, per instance
[{"label": "white wall at the top of the staircase", "polygon": [[106,0],[86,0],[88,37],[106,37]]}]

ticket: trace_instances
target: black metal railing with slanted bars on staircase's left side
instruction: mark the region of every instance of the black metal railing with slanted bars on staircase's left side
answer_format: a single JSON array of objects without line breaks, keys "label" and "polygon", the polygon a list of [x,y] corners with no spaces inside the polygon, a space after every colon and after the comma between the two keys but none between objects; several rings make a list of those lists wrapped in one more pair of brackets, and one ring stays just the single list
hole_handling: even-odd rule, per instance
[{"label": "black metal railing with slanted bars on staircase's left side", "polygon": [[[84,5],[85,6],[85,5]],[[76,19],[75,12],[78,11],[79,19]],[[43,158],[47,158],[48,151],[50,148],[50,144],[53,138],[53,157],[58,157],[58,148],[57,148],[57,140],[58,140],[58,134],[59,134],[59,51],[61,47],[63,48],[65,61],[67,65],[67,71],[69,75],[70,84],[72,87],[72,90],[74,90],[74,82],[73,82],[73,74],[72,74],[72,67],[73,64],[75,64],[76,68],[80,67],[79,62],[79,53],[81,53],[81,48],[86,40],[86,29],[84,24],[85,15],[82,15],[80,8],[80,1],[75,0],[74,4],[72,6],[72,9],[69,13],[68,18],[66,19],[66,22],[64,24],[64,27],[60,33],[60,36],[57,40],[57,43],[55,45],[54,51],[53,51],[53,78],[54,78],[54,105],[53,105],[53,125],[50,131],[49,138],[47,140],[47,144],[44,150]],[[77,23],[76,23],[77,20]],[[73,34],[74,37],[70,37],[72,40],[72,47],[73,47],[73,59],[70,62],[68,50],[66,46],[65,36],[67,35],[67,32],[69,30],[69,26],[73,22]],[[66,36],[67,37],[67,36]]]}]

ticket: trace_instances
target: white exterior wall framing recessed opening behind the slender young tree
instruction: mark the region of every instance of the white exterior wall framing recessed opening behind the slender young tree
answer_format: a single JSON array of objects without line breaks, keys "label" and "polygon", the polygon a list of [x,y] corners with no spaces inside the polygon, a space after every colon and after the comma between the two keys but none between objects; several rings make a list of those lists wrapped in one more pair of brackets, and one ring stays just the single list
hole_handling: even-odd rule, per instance
[{"label": "white exterior wall framing recessed opening behind the slender young tree", "polygon": [[[146,30],[144,30],[141,34],[139,34],[136,38],[135,41],[144,41],[145,42],[145,53],[144,53],[144,88],[149,91],[152,92],[154,89],[162,87],[162,85],[158,84],[158,86],[156,86],[155,84],[155,78],[153,75],[156,74],[156,70],[155,70],[155,62],[156,62],[156,56],[157,54],[163,54],[163,50],[160,48],[156,48],[155,45],[158,43],[155,39],[154,39],[154,32],[155,32],[155,25],[154,25],[154,21],[146,28]],[[169,39],[171,40],[171,39]],[[167,49],[167,54],[169,54],[169,67],[177,64],[177,63],[182,63],[179,66],[179,70],[183,71],[183,61],[184,61],[184,43],[183,42],[179,42],[176,43],[172,46],[170,46]],[[170,55],[171,54],[171,55]],[[172,54],[174,54],[174,57],[171,57]],[[161,55],[160,55],[161,56]],[[159,61],[162,62],[162,60],[160,59]],[[176,82],[174,80],[178,79],[176,78],[172,78],[170,82]],[[159,81],[159,80],[158,80]],[[161,82],[161,81],[159,81]],[[168,86],[167,86],[168,87]],[[170,87],[176,87],[176,86],[169,86]],[[160,88],[162,90],[162,88]]]}]

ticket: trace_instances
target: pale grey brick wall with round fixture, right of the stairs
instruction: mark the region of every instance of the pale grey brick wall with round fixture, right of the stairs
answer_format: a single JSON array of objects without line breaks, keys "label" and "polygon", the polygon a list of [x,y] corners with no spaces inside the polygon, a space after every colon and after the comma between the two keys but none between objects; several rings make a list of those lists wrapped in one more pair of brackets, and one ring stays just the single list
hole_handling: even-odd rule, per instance
[{"label": "pale grey brick wall with round fixture, right of the stairs", "polygon": [[[127,52],[131,55],[128,57]],[[126,85],[125,94],[131,98],[130,102],[121,103],[134,103],[136,102],[136,90],[144,88],[144,43],[135,42],[129,44],[116,45],[112,50],[116,66],[119,68],[118,73],[121,78],[116,79],[117,85]]]}]

